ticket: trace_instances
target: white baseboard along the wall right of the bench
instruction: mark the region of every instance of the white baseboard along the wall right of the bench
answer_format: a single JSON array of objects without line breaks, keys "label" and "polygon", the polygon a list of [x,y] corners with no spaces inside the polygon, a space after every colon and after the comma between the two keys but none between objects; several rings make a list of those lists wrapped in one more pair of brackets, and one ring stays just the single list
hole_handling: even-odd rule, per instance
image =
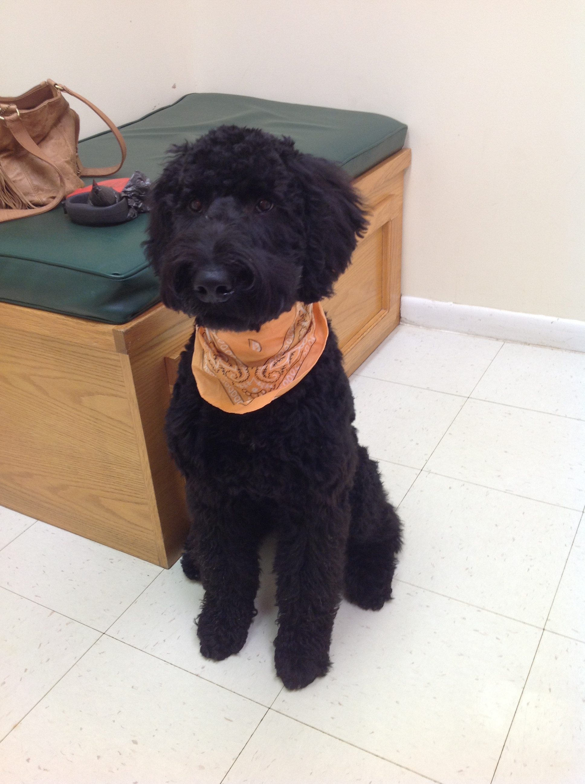
[{"label": "white baseboard along the wall right of the bench", "polygon": [[403,296],[400,321],[486,338],[585,352],[585,321]]}]

